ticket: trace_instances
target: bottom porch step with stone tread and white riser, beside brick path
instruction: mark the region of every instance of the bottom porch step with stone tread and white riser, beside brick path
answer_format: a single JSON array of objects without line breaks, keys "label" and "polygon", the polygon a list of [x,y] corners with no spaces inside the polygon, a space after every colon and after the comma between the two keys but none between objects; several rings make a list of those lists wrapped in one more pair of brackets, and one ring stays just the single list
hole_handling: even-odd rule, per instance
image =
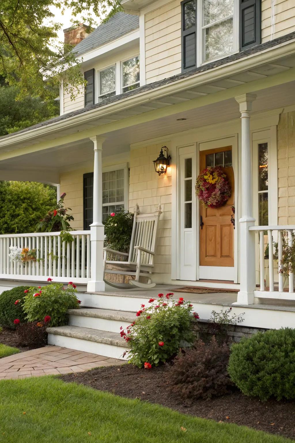
[{"label": "bottom porch step with stone tread and white riser, beside brick path", "polygon": [[79,326],[56,326],[46,329],[48,344],[76,349],[111,358],[123,358],[128,343],[119,332],[91,329]]}]

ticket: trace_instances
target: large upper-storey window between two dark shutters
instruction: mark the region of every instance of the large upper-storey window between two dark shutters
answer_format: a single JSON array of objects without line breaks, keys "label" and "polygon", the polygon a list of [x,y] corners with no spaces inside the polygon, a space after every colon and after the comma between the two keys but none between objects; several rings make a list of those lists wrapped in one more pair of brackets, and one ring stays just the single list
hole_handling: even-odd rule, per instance
[{"label": "large upper-storey window between two dark shutters", "polygon": [[234,50],[234,0],[203,0],[203,61],[221,58]]}]

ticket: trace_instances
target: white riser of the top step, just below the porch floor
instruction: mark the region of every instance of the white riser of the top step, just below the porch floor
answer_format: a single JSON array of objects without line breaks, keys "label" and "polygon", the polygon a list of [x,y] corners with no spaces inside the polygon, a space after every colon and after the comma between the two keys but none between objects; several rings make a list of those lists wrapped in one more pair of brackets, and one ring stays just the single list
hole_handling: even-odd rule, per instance
[{"label": "white riser of the top step, just below the porch floor", "polygon": [[142,299],[139,297],[118,297],[115,295],[102,295],[102,294],[79,294],[81,300],[81,307],[97,307],[100,309],[115,309],[117,311],[131,311],[137,312],[140,309],[141,304],[146,306],[149,304],[149,298]]}]

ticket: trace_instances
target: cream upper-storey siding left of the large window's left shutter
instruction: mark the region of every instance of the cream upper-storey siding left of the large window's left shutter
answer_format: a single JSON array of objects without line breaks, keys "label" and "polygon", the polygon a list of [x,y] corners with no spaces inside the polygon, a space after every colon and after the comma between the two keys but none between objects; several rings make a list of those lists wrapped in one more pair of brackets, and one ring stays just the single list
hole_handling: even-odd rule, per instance
[{"label": "cream upper-storey siding left of the large window's left shutter", "polygon": [[171,1],[145,15],[146,82],[181,72],[180,1]]}]

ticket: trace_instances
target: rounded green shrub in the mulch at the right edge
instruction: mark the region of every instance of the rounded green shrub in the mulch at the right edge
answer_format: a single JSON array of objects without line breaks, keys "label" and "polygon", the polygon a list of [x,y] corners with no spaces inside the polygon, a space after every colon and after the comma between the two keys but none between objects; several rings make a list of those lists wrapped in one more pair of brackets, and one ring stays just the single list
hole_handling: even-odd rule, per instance
[{"label": "rounded green shrub in the mulch at the right edge", "polygon": [[245,395],[295,399],[295,329],[258,332],[234,344],[228,372]]}]

